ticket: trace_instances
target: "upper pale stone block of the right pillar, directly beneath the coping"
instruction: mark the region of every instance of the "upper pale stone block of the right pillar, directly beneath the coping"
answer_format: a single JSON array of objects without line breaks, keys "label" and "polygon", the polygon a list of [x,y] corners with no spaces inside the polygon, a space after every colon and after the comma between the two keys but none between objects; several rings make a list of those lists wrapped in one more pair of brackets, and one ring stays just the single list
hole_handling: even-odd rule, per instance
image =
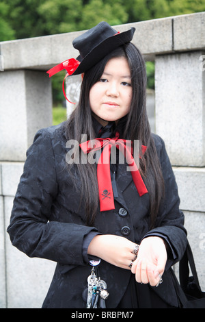
[{"label": "upper pale stone block of the right pillar, directly beneath the coping", "polygon": [[173,165],[205,165],[205,73],[202,51],[156,57],[156,133]]}]

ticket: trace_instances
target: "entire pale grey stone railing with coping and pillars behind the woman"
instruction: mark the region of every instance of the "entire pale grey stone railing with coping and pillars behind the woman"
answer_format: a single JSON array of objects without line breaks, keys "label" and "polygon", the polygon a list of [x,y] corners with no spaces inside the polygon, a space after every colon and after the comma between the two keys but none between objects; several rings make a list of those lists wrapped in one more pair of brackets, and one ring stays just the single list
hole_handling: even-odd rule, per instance
[{"label": "entire pale grey stone railing with coping and pillars behind the woman", "polygon": [[[180,208],[205,289],[205,12],[115,26],[136,28],[133,42],[155,61],[155,125],[167,147]],[[77,57],[73,32],[0,42],[0,308],[40,308],[55,263],[12,247],[8,227],[25,153],[52,123],[46,70]],[[78,82],[78,79],[76,79]],[[70,85],[67,83],[67,90]],[[70,106],[68,106],[69,114]]]}]

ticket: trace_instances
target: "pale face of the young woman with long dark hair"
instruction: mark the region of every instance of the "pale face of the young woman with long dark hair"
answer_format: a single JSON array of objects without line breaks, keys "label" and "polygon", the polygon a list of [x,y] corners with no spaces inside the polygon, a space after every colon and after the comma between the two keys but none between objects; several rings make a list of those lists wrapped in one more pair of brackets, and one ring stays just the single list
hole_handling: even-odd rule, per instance
[{"label": "pale face of the young woman with long dark hair", "polygon": [[131,71],[126,58],[111,58],[102,76],[90,89],[91,110],[103,125],[108,121],[118,121],[128,114],[133,88]]}]

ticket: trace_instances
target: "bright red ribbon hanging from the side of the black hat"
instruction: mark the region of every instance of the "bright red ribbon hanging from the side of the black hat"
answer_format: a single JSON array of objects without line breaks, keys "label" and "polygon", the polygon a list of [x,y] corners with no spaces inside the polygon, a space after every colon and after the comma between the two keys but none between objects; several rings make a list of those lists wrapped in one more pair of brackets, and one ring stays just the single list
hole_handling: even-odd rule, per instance
[{"label": "bright red ribbon hanging from the side of the black hat", "polygon": [[[64,97],[67,99],[67,101],[69,101],[69,99],[66,97],[66,92],[64,90],[65,79],[66,79],[66,77],[72,75],[74,73],[74,71],[77,70],[80,63],[81,62],[79,62],[79,60],[76,60],[74,58],[70,58],[70,59],[65,60],[64,62],[61,62],[60,64],[54,66],[52,69],[49,69],[49,71],[46,72],[49,74],[49,77],[52,77],[53,75],[57,74],[59,71],[66,69],[67,73],[66,73],[66,76],[64,77],[62,88],[63,88],[63,92],[64,92]],[[72,102],[69,101],[69,103],[72,103]],[[72,103],[72,104],[75,104],[75,103]]]}]

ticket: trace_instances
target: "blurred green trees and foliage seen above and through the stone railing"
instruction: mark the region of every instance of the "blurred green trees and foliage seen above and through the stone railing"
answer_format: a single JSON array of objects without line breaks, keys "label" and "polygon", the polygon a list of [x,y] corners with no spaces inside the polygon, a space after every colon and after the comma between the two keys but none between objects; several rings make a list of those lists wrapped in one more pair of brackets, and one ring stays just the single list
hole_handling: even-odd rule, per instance
[{"label": "blurred green trees and foliage seen above and through the stone railing", "polygon": [[[0,42],[205,11],[205,0],[0,0]],[[154,90],[154,62],[146,62]],[[52,77],[53,125],[66,119],[64,71]]]}]

